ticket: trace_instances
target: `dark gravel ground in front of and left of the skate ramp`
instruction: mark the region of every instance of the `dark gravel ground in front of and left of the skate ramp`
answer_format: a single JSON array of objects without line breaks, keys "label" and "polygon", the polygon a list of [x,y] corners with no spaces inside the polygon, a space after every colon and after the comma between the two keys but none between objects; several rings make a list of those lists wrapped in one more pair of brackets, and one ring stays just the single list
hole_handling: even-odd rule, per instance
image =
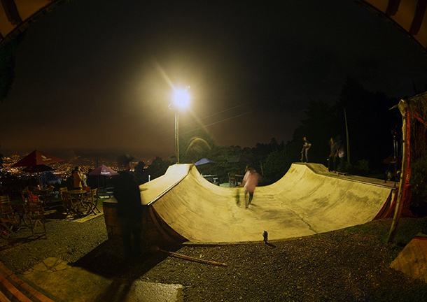
[{"label": "dark gravel ground in front of and left of the skate ramp", "polygon": [[57,257],[107,277],[183,285],[183,301],[427,301],[425,282],[389,268],[423,220],[402,219],[393,245],[384,243],[387,219],[269,244],[169,247],[221,266],[148,247],[127,262],[120,243],[107,240],[103,216],[77,223],[54,213],[47,239],[29,229],[1,239],[0,261],[19,274]]}]

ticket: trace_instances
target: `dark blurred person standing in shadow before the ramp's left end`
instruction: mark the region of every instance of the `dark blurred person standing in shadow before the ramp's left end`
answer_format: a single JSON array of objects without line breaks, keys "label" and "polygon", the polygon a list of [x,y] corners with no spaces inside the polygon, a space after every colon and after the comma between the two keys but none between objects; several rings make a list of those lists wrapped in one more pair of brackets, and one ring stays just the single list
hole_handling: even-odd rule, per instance
[{"label": "dark blurred person standing in shadow before the ramp's left end", "polygon": [[141,192],[136,175],[130,171],[130,161],[127,162],[125,171],[120,171],[119,175],[113,178],[113,196],[117,200],[117,215],[122,229],[123,250],[128,260],[141,254],[142,235]]}]

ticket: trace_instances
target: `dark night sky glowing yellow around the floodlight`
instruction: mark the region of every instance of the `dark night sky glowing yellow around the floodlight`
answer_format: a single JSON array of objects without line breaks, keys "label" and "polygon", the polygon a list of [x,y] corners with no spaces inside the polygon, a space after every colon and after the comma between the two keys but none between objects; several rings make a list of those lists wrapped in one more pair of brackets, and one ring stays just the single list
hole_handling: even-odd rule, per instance
[{"label": "dark night sky glowing yellow around the floodlight", "polygon": [[308,101],[335,103],[346,76],[405,98],[426,82],[427,56],[351,0],[73,0],[26,31],[0,152],[166,159],[168,106],[187,85],[180,125],[217,145],[286,143]]}]

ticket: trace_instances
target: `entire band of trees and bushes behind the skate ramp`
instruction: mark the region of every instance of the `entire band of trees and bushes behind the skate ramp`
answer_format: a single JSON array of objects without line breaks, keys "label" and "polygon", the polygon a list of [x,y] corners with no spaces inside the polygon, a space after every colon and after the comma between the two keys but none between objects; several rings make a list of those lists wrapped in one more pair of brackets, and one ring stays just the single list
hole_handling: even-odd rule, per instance
[{"label": "entire band of trees and bushes behind the skate ramp", "polygon": [[[388,168],[384,159],[393,153],[393,129],[400,127],[401,117],[398,110],[389,110],[398,103],[384,94],[367,92],[359,82],[348,79],[342,87],[342,93],[335,104],[325,101],[309,101],[306,118],[295,129],[292,141],[278,143],[272,138],[270,143],[258,143],[254,148],[216,145],[211,134],[203,128],[183,129],[179,137],[180,162],[195,163],[207,158],[216,164],[197,166],[204,175],[218,175],[221,182],[228,182],[228,174],[243,174],[246,166],[253,166],[262,175],[262,184],[279,180],[288,171],[290,165],[300,161],[302,138],[311,143],[309,159],[311,162],[328,165],[330,138],[342,138],[347,145],[348,137],[350,161],[346,168],[359,175],[384,175]],[[348,127],[348,136],[346,131]],[[228,164],[227,161],[242,155],[250,162]],[[174,156],[171,156],[174,159]],[[162,159],[151,164],[158,165]],[[170,164],[170,162],[168,161]],[[162,169],[165,169],[163,166]],[[153,173],[151,178],[162,175]]]}]

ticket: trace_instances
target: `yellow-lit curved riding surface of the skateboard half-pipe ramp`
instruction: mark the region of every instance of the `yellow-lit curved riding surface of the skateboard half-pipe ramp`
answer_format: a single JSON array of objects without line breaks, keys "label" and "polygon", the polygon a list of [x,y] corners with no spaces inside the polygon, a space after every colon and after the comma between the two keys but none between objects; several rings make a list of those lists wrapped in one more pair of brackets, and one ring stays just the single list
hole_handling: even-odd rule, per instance
[{"label": "yellow-lit curved riding surface of the skateboard half-pipe ramp", "polygon": [[[349,180],[321,164],[293,164],[278,182],[257,187],[245,209],[244,188],[213,185],[193,165],[170,166],[141,186],[144,204],[193,243],[234,243],[309,236],[370,222],[391,187]],[[237,203],[239,196],[239,203]]]}]

